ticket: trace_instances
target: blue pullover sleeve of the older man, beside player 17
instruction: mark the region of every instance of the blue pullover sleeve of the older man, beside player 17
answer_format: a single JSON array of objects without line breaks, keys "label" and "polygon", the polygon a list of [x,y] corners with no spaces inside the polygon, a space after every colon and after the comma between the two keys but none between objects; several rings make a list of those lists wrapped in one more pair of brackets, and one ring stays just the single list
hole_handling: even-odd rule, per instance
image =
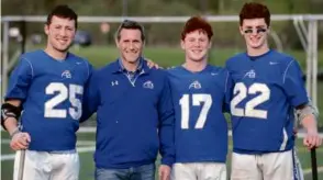
[{"label": "blue pullover sleeve of the older man, beside player 17", "polygon": [[162,164],[170,166],[175,161],[175,113],[171,100],[169,79],[166,77],[158,102],[159,142]]}]

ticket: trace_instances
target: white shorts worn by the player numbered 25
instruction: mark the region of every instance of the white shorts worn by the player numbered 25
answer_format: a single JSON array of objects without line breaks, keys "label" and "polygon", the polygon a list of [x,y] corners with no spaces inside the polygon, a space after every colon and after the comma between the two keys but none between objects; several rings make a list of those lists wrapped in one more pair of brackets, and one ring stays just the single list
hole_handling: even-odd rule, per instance
[{"label": "white shorts worn by the player numbered 25", "polygon": [[[18,180],[21,150],[15,153],[13,180]],[[78,180],[77,153],[52,154],[25,150],[23,180]]]}]

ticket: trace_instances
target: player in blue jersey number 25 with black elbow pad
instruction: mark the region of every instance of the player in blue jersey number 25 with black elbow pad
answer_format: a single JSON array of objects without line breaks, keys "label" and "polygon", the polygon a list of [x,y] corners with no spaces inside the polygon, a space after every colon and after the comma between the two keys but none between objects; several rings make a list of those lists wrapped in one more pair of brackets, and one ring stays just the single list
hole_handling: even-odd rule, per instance
[{"label": "player in blue jersey number 25 with black elbow pad", "polygon": [[23,54],[11,74],[1,124],[12,137],[11,148],[18,150],[14,180],[21,170],[24,180],[77,180],[76,131],[91,66],[68,53],[77,30],[77,14],[70,8],[56,7],[44,30],[45,49]]}]

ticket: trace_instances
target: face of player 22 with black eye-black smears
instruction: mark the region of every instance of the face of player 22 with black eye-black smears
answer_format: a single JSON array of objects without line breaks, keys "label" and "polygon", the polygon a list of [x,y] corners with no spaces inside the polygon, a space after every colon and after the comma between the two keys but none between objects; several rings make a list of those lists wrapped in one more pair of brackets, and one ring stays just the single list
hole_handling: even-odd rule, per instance
[{"label": "face of player 22 with black eye-black smears", "polygon": [[244,36],[247,47],[260,48],[267,44],[269,27],[265,19],[246,19],[240,26],[241,34]]}]

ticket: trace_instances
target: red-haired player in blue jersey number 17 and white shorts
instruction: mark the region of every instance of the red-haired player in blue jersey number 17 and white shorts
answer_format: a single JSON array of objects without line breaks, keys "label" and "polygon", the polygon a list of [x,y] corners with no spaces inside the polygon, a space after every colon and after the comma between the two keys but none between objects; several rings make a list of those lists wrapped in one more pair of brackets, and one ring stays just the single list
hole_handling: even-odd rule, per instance
[{"label": "red-haired player in blue jersey number 17 and white shorts", "polygon": [[213,32],[199,16],[181,33],[185,63],[169,69],[175,105],[176,162],[174,180],[226,180],[229,71],[208,64]]}]

